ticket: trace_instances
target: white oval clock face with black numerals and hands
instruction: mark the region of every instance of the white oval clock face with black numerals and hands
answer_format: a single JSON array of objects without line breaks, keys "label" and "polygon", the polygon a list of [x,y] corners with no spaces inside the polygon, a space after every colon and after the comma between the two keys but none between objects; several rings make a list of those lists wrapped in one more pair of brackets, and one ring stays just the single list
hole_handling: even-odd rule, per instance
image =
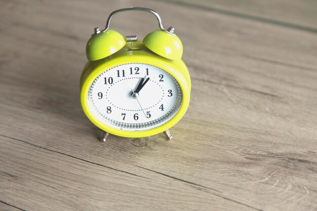
[{"label": "white oval clock face with black numerals and hands", "polygon": [[102,72],[88,91],[88,105],[99,121],[124,131],[145,131],[176,115],[183,95],[167,71],[130,63]]}]

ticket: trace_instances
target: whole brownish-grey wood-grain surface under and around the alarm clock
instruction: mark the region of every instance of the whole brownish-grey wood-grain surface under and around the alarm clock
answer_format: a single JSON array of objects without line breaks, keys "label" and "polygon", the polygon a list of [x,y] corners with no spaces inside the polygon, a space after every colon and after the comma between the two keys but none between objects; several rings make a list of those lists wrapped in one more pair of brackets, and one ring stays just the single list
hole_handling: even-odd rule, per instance
[{"label": "whole brownish-grey wood-grain surface under and around the alarm clock", "polygon": [[[131,6],[183,41],[191,102],[171,142],[101,143],[80,105],[93,28]],[[1,1],[0,210],[317,210],[316,1]]]}]

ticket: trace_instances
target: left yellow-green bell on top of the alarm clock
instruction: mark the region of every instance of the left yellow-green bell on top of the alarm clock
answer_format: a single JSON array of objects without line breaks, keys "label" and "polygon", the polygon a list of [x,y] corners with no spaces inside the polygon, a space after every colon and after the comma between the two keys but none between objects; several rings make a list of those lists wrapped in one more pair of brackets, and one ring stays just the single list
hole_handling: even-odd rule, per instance
[{"label": "left yellow-green bell on top of the alarm clock", "polygon": [[126,45],[125,38],[114,30],[95,28],[86,46],[86,56],[89,61],[108,57]]}]

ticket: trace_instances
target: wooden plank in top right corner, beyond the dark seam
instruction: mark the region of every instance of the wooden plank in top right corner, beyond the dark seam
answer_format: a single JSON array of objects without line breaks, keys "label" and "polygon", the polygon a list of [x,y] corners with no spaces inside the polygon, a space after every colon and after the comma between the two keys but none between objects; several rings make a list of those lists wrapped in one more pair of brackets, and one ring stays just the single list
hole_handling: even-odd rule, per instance
[{"label": "wooden plank in top right corner, beyond the dark seam", "polygon": [[317,2],[314,0],[163,0],[236,18],[317,32]]}]

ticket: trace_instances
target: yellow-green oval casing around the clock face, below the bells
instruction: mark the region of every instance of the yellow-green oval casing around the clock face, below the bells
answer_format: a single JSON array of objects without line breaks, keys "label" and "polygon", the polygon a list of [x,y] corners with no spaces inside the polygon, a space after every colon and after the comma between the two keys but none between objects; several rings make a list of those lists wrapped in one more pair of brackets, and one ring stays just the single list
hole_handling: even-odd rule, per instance
[{"label": "yellow-green oval casing around the clock face, below the bells", "polygon": [[[129,63],[143,63],[159,67],[170,73],[178,81],[183,93],[183,102],[179,111],[170,121],[163,125],[157,126],[157,128],[145,131],[124,131],[112,128],[111,125],[105,124],[104,122],[97,119],[90,111],[87,95],[88,90],[95,78],[105,70]],[[141,41],[135,41],[133,42],[133,51],[130,49],[130,44],[127,43],[127,45],[122,50],[112,54],[111,56],[97,61],[88,61],[82,73],[80,87],[81,104],[83,110],[87,117],[96,126],[98,126],[98,128],[116,136],[140,138],[162,133],[170,129],[184,116],[189,106],[191,82],[188,69],[181,59],[166,59],[149,51]]]}]

